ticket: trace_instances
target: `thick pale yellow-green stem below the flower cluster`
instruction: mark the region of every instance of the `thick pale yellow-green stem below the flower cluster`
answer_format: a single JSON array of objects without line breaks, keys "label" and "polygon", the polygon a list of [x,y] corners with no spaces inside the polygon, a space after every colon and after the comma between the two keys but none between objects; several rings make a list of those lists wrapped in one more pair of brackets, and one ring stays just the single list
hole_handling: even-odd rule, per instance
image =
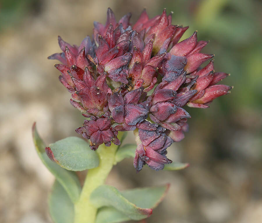
[{"label": "thick pale yellow-green stem below the flower cluster", "polygon": [[[121,135],[122,133],[119,132],[119,139],[121,139]],[[75,203],[75,223],[95,222],[97,208],[90,203],[89,196],[95,188],[104,184],[114,165],[117,147],[113,143],[110,147],[106,147],[105,144],[99,146],[97,153],[100,163],[98,167],[88,170],[80,198]]]}]

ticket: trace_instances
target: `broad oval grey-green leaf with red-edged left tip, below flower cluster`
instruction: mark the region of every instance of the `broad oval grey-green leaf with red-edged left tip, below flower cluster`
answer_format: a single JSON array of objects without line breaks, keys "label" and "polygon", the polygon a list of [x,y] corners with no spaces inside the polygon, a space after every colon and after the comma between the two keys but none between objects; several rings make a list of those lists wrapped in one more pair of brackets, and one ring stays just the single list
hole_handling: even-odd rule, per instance
[{"label": "broad oval grey-green leaf with red-edged left tip, below flower cluster", "polygon": [[82,171],[99,165],[97,153],[79,137],[67,137],[50,144],[49,148],[49,156],[67,170]]}]

